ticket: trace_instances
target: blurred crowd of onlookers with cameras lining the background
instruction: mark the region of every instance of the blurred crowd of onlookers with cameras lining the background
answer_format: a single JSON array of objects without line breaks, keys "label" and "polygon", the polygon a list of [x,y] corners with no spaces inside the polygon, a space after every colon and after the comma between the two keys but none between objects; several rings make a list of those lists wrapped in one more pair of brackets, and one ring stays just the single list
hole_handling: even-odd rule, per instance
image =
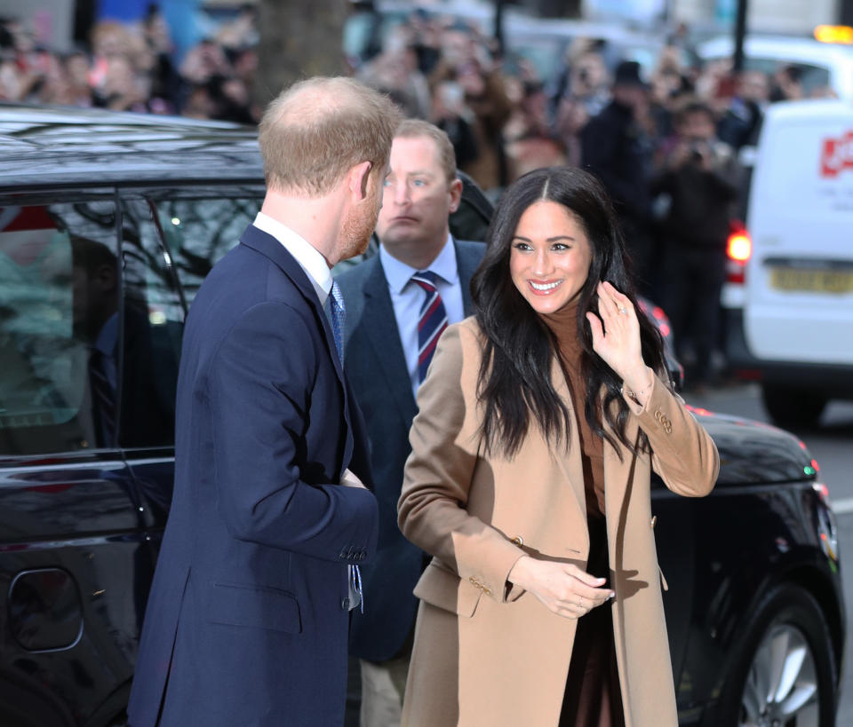
[{"label": "blurred crowd of onlookers with cameras lining the background", "polygon": [[[737,151],[754,143],[769,103],[804,95],[796,67],[733,82],[729,62],[691,62],[685,34],[676,33],[648,74],[632,61],[612,67],[612,49],[577,39],[543,78],[468,21],[414,11],[388,32],[375,12],[365,17],[366,40],[347,56],[348,73],[403,115],[446,131],[458,168],[493,199],[542,167],[583,167],[602,179],[642,293],[674,319],[687,382],[713,383],[724,368],[724,246],[729,225],[745,216]],[[68,54],[38,47],[7,20],[0,99],[256,123],[257,42],[251,6],[179,62],[156,5],[135,25],[100,21],[91,47]]]}]

